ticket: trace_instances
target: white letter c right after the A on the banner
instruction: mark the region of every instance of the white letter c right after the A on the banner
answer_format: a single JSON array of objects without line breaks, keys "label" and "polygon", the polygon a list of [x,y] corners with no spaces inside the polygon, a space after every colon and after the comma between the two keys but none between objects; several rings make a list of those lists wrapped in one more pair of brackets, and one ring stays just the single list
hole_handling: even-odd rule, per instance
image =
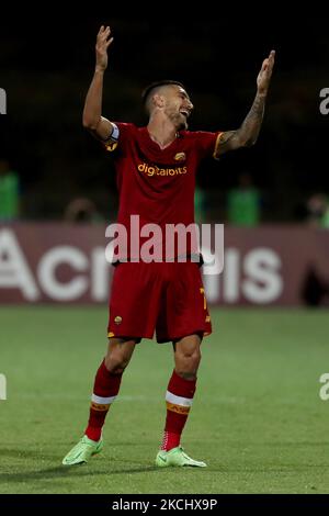
[{"label": "white letter c right after the A on the banner", "polygon": [[59,246],[48,250],[41,259],[37,268],[38,281],[49,298],[56,301],[76,300],[88,290],[88,278],[77,276],[67,283],[59,283],[55,272],[60,263],[68,263],[73,269],[82,272],[88,270],[88,258],[77,247]]}]

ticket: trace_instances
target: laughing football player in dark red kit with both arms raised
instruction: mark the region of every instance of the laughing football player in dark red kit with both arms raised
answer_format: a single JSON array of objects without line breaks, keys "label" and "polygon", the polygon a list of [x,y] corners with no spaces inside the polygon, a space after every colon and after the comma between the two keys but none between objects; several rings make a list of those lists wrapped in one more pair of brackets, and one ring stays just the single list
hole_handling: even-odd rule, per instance
[{"label": "laughing football player in dark red kit with both arms raised", "polygon": [[[185,88],[167,80],[144,91],[149,116],[146,127],[110,122],[102,116],[103,76],[107,48],[113,37],[101,26],[95,45],[95,70],[86,98],[83,125],[112,153],[120,192],[117,222],[127,231],[131,216],[138,215],[140,226],[194,222],[195,173],[200,161],[218,158],[228,150],[253,145],[263,117],[265,98],[274,65],[274,51],[264,59],[257,78],[253,104],[237,131],[189,132],[188,119],[193,104]],[[190,249],[191,250],[191,249]],[[136,344],[152,338],[172,341],[174,370],[169,380],[167,417],[158,467],[205,467],[191,459],[181,447],[196,386],[201,343],[212,332],[200,263],[179,261],[135,261],[127,248],[126,260],[116,263],[109,321],[109,349],[94,380],[88,426],[83,437],[64,458],[64,464],[87,462],[103,447],[102,427],[115,401],[123,372]]]}]

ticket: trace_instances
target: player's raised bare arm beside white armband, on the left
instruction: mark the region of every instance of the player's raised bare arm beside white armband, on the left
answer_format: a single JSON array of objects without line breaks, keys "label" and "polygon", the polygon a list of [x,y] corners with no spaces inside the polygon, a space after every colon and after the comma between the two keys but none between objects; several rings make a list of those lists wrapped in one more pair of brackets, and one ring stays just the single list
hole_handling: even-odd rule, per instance
[{"label": "player's raised bare arm beside white armband, on the left", "polygon": [[113,42],[110,26],[101,26],[95,44],[95,69],[89,87],[82,123],[97,138],[106,139],[113,131],[112,123],[102,116],[103,77],[107,68],[107,48]]}]

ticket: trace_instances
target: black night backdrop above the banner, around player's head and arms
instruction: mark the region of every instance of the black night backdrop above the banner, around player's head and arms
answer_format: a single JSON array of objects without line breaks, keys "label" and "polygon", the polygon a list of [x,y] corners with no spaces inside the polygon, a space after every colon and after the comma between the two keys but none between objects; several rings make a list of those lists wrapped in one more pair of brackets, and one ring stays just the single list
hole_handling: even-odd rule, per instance
[{"label": "black night backdrop above the banner, around player's head and arms", "polygon": [[257,145],[204,162],[198,184],[208,194],[211,216],[225,221],[227,191],[247,170],[262,192],[263,222],[302,222],[310,194],[329,193],[329,115],[319,111],[319,92],[329,87],[327,18],[268,16],[252,25],[243,15],[161,20],[127,20],[109,11],[73,22],[45,15],[0,21],[0,87],[8,96],[0,157],[20,175],[22,218],[63,218],[67,204],[81,195],[106,220],[115,216],[111,158],[81,124],[95,35],[109,24],[114,43],[103,114],[137,125],[147,121],[143,88],[172,78],[185,85],[194,103],[190,130],[238,128],[261,63],[276,51]]}]

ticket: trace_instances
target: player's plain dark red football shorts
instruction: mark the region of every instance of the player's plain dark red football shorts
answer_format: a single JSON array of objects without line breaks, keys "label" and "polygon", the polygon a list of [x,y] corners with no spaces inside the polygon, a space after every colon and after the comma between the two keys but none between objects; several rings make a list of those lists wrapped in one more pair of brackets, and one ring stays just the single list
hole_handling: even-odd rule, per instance
[{"label": "player's plain dark red football shorts", "polygon": [[109,337],[158,343],[212,333],[204,288],[194,262],[124,262],[115,267]]}]

